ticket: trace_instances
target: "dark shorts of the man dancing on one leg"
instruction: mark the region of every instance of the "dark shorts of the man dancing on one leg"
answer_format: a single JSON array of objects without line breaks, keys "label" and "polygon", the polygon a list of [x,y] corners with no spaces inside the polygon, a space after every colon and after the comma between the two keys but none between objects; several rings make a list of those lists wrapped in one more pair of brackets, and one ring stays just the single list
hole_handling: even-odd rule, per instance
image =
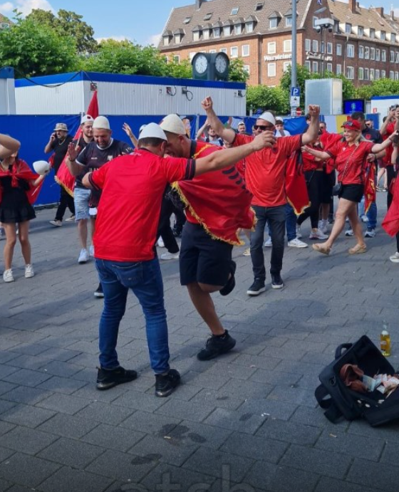
[{"label": "dark shorts of the man dancing on one leg", "polygon": [[199,224],[186,222],[180,246],[180,283],[224,286],[232,271],[232,244],[212,239]]}]

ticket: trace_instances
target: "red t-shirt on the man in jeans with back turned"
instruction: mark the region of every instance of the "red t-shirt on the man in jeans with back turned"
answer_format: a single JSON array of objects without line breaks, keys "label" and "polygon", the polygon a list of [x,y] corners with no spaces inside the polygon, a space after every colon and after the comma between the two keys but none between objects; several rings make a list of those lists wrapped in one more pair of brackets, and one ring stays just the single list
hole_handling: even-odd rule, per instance
[{"label": "red t-shirt on the man in jeans with back turned", "polygon": [[155,241],[167,183],[192,179],[195,160],[159,157],[144,149],[117,157],[90,174],[103,190],[95,220],[95,258],[148,261]]}]

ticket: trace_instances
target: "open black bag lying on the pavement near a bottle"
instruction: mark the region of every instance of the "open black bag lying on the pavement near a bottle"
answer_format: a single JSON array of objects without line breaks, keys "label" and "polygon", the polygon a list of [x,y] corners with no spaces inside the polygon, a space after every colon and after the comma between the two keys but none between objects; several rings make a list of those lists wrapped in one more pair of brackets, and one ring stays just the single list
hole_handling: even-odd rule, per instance
[{"label": "open black bag lying on the pavement near a bottle", "polygon": [[370,377],[376,374],[394,375],[396,372],[366,335],[353,344],[339,345],[335,360],[321,371],[321,384],[314,393],[327,419],[336,424],[343,418],[354,420],[363,417],[372,426],[399,419],[399,388],[386,399],[377,389],[365,394],[355,392],[339,376],[341,367],[346,364],[358,365]]}]

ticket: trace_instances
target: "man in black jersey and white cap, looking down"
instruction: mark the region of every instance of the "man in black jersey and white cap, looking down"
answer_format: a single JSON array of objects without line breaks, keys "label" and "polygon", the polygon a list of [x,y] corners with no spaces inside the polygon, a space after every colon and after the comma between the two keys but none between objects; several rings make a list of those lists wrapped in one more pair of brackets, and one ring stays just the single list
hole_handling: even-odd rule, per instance
[{"label": "man in black jersey and white cap, looking down", "polygon": [[[100,168],[103,164],[106,164],[115,157],[133,152],[133,148],[127,143],[113,139],[110,122],[105,116],[96,117],[93,121],[92,128],[93,141],[88,143],[81,152],[75,145],[71,144],[68,146],[68,161],[66,164],[68,165],[71,174],[73,174],[73,176],[79,176],[81,179],[86,173]],[[100,192],[91,192],[89,206],[95,209],[99,199]],[[93,251],[91,252],[93,253]],[[81,258],[81,255],[79,255],[79,258]],[[83,255],[81,259],[84,259]],[[79,263],[83,262],[80,261]],[[94,295],[98,298],[104,297],[101,284],[99,284]]]}]

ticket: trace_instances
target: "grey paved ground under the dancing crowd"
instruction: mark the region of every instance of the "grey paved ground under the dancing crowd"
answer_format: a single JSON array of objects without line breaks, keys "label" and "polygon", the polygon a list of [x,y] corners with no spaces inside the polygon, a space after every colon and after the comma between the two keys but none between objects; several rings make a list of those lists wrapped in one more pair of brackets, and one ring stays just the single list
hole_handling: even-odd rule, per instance
[{"label": "grey paved ground under the dancing crowd", "polygon": [[[378,194],[381,210],[385,199]],[[140,377],[96,391],[98,278],[93,261],[77,263],[75,224],[52,228],[53,213],[32,221],[36,276],[24,278],[17,246],[16,281],[0,286],[0,492],[399,490],[399,425],[329,424],[314,399],[336,346],[364,333],[378,342],[384,319],[399,367],[393,239],[379,229],[354,257],[355,240],[343,236],[329,257],[286,248],[286,287],[256,298],[246,294],[251,260],[235,248],[237,287],[214,303],[237,347],[209,362],[195,357],[209,333],[180,287],[178,261],[163,262],[183,384],[160,399],[133,295],[118,347]]]}]

